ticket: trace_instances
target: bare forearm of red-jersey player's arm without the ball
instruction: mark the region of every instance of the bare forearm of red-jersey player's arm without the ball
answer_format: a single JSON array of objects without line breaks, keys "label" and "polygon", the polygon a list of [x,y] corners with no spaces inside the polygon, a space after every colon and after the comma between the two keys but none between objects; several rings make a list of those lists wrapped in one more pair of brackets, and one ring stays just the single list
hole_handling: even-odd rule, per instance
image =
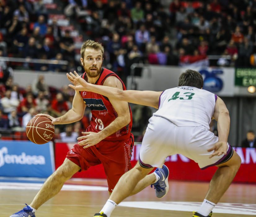
[{"label": "bare forearm of red-jersey player's arm without the ball", "polygon": [[123,128],[129,123],[130,123],[130,116],[117,117],[112,123],[110,123],[106,128],[104,128],[104,130],[99,132],[99,136],[101,140],[117,132],[118,130],[120,130],[121,128]]}]

